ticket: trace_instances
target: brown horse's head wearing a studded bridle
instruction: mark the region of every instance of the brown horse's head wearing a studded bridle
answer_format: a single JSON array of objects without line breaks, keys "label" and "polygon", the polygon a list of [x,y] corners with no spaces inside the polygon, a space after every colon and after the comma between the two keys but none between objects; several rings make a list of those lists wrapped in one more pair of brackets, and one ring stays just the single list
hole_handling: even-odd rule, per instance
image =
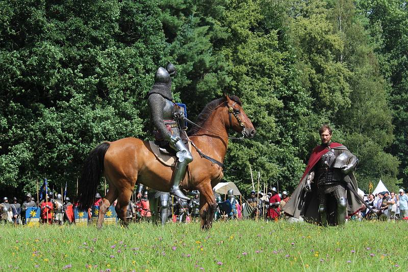
[{"label": "brown horse's head wearing a studded bridle", "polygon": [[251,120],[246,116],[242,108],[242,102],[237,96],[225,95],[225,107],[222,112],[225,113],[224,122],[226,127],[230,127],[235,131],[242,133],[244,137],[252,138],[256,130],[252,125]]}]

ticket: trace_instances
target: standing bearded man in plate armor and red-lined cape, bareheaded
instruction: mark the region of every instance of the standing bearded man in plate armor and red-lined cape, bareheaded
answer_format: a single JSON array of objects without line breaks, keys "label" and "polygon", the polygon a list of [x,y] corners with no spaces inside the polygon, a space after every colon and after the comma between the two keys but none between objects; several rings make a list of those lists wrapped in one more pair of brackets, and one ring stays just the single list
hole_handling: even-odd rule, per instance
[{"label": "standing bearded man in plate armor and red-lined cape, bareheaded", "polygon": [[[302,216],[321,225],[342,225],[347,213],[358,212],[362,205],[356,195],[357,181],[353,174],[359,160],[345,146],[331,142],[332,131],[328,125],[321,126],[319,133],[321,145],[313,149],[284,212],[296,219]],[[334,210],[329,211],[328,207],[334,207]]]}]

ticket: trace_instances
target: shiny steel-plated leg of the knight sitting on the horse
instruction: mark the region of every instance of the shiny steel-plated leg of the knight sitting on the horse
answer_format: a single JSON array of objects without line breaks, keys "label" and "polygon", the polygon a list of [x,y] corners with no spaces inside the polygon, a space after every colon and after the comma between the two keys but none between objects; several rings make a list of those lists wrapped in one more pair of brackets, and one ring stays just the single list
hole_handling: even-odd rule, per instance
[{"label": "shiny steel-plated leg of the knight sitting on the horse", "polygon": [[177,143],[175,143],[175,145],[172,145],[171,147],[177,151],[176,156],[179,160],[177,160],[175,165],[172,180],[173,185],[171,187],[170,193],[181,199],[190,200],[183,194],[183,192],[179,188],[179,184],[184,178],[184,175],[186,174],[187,165],[191,161],[193,161],[193,156],[191,155],[190,151],[181,140],[177,141]]}]

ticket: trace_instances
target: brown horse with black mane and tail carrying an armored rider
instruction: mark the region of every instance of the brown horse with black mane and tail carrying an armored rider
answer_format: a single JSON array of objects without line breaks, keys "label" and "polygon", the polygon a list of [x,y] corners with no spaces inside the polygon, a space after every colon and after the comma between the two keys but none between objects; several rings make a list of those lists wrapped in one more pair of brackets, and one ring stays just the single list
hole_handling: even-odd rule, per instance
[{"label": "brown horse with black mane and tail carrying an armored rider", "polygon": [[[241,101],[235,96],[225,96],[208,103],[189,133],[190,140],[202,153],[222,162],[228,146],[229,128],[242,133],[243,137],[252,138],[255,134]],[[222,179],[222,168],[201,157],[195,149],[191,153],[193,161],[180,187],[198,189],[201,228],[209,229],[217,207],[212,188]],[[103,173],[109,182],[109,191],[99,206],[98,228],[102,226],[104,215],[115,199],[118,200],[115,210],[122,224],[126,225],[126,207],[136,182],[169,192],[173,168],[163,165],[146,141],[125,138],[104,142],[93,149],[85,161],[79,183],[80,208],[87,209],[93,205],[96,187]]]}]

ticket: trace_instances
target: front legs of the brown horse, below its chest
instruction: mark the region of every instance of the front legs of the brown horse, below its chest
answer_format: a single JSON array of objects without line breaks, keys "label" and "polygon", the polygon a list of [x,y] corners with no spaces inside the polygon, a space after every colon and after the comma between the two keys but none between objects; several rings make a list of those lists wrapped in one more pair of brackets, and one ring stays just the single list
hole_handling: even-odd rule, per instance
[{"label": "front legs of the brown horse, below its chest", "polygon": [[[210,229],[213,225],[217,202],[215,201],[211,182],[201,182],[197,188],[200,191],[200,223],[201,229]],[[202,185],[201,185],[202,184]],[[201,204],[203,203],[203,204]]]}]

